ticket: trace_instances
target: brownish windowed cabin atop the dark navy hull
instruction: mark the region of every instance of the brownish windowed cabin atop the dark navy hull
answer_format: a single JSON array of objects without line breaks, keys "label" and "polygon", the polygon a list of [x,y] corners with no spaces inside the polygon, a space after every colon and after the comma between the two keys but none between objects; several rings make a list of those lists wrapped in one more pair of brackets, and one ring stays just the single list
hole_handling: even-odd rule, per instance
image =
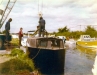
[{"label": "brownish windowed cabin atop the dark navy hull", "polygon": [[64,42],[62,39],[53,37],[31,37],[27,39],[27,46],[32,48],[64,49]]}]

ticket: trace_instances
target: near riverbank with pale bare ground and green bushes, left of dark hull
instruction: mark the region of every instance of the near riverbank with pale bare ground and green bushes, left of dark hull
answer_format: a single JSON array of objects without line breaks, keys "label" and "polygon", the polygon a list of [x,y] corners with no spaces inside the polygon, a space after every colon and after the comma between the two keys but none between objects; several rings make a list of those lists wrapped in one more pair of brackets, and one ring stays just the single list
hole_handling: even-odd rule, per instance
[{"label": "near riverbank with pale bare ground and green bushes, left of dark hull", "polygon": [[[13,54],[11,52],[10,50],[0,50],[0,75],[7,73],[7,75],[38,75],[32,60],[27,58],[22,50],[16,48],[12,52]],[[19,53],[18,56],[16,53]]]}]

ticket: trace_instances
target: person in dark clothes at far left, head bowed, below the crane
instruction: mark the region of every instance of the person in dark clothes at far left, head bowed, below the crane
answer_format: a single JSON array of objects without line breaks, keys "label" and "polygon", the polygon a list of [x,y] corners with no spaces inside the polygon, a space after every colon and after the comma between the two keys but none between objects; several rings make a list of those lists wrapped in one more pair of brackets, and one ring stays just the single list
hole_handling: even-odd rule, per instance
[{"label": "person in dark clothes at far left, head bowed, below the crane", "polygon": [[10,22],[12,21],[12,18],[9,18],[9,20],[5,24],[5,32],[6,32],[6,39],[5,41],[9,43],[9,37],[10,37]]}]

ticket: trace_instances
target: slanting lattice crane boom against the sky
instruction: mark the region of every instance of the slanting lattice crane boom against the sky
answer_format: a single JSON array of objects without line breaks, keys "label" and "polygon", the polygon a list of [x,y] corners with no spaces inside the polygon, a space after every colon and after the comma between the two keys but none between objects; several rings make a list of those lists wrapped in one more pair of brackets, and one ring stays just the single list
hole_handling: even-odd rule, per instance
[{"label": "slanting lattice crane boom against the sky", "polygon": [[0,19],[0,28],[3,26],[5,20],[7,19],[9,13],[11,12],[16,0],[8,1],[5,10],[1,14],[1,19]]}]

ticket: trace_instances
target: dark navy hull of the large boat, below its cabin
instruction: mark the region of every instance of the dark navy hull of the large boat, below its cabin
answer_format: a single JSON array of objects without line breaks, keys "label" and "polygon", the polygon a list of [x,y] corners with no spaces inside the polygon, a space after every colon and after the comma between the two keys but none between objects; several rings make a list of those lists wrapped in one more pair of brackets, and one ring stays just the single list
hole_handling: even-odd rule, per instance
[{"label": "dark navy hull of the large boat, below its cabin", "polygon": [[48,50],[28,47],[29,57],[36,68],[45,75],[63,75],[65,69],[65,50]]}]

